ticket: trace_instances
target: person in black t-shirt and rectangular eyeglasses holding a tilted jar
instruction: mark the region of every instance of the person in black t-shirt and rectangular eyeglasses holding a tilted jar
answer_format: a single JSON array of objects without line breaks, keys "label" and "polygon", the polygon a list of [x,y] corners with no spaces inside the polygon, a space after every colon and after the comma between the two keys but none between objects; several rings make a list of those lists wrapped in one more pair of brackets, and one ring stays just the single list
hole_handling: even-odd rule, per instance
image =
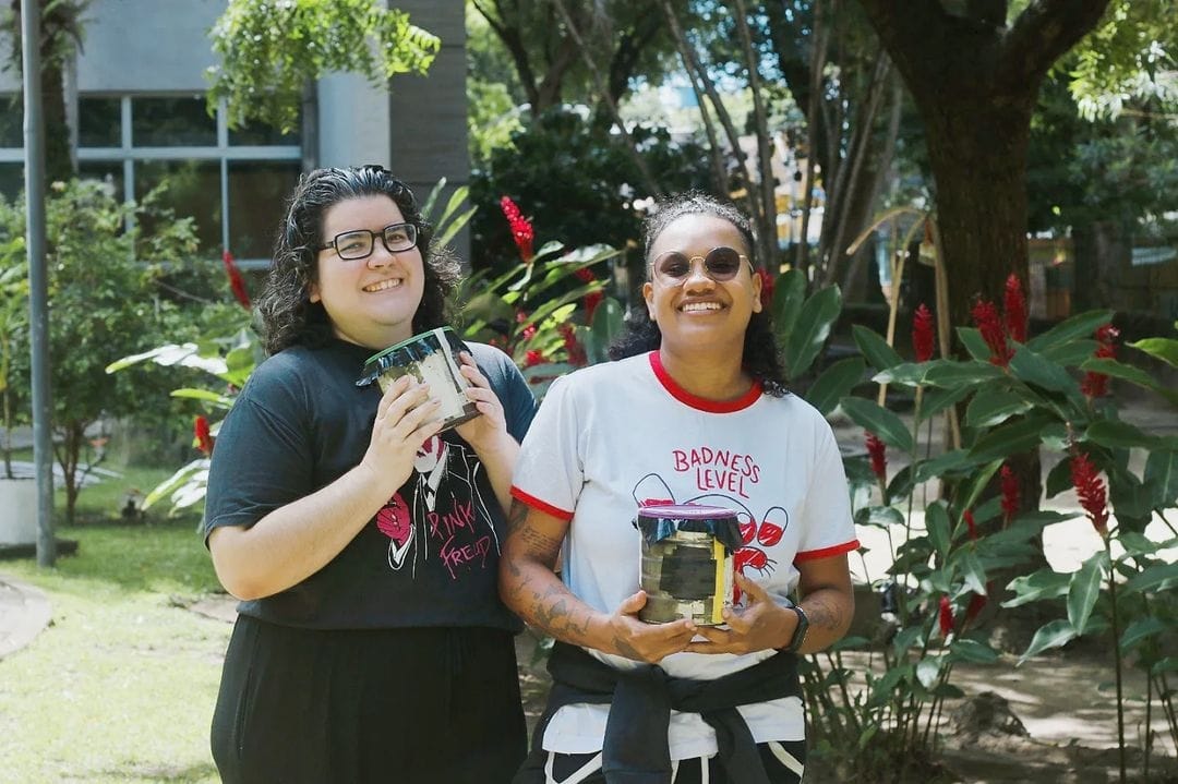
[{"label": "person in black t-shirt and rectangular eyeglasses holding a tilted jar", "polygon": [[510,474],[535,411],[469,344],[482,416],[439,433],[409,376],[365,360],[446,324],[458,266],[379,166],[305,175],[258,300],[269,358],[225,418],[207,546],[241,599],[212,723],[223,780],[507,782],[525,729],[496,591]]}]

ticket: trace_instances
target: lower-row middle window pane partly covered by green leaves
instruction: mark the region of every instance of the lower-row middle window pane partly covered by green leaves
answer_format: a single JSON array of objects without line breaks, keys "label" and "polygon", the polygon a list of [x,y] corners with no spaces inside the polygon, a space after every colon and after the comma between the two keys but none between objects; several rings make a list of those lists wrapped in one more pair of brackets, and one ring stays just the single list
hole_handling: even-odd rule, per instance
[{"label": "lower-row middle window pane partly covered by green leaves", "polygon": [[[221,246],[220,164],[216,160],[148,160],[135,164],[135,201],[167,179],[167,192],[160,207],[176,211],[177,218],[197,221],[200,250],[219,253]],[[145,231],[152,231],[157,219],[145,218]]]}]

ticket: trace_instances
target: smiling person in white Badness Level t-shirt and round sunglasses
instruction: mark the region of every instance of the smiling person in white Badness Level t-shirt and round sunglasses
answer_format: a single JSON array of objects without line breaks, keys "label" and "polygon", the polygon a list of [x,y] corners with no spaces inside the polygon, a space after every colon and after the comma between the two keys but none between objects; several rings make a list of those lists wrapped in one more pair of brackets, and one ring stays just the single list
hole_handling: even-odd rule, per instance
[{"label": "smiling person in white Badness Level t-shirt and round sunglasses", "polygon": [[[644,312],[615,361],[550,387],[524,439],[499,590],[557,643],[518,783],[801,779],[796,656],[846,633],[858,542],[830,427],[786,390],[753,248],[728,204],[660,205]],[[664,504],[736,512],[720,625],[638,618],[631,521]]]}]

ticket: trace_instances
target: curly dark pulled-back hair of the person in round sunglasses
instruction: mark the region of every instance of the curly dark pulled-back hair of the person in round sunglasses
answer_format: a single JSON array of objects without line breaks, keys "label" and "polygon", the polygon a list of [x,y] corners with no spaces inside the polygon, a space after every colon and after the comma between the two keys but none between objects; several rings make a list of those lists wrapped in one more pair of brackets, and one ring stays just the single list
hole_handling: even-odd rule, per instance
[{"label": "curly dark pulled-back hair of the person in round sunglasses", "polygon": [[[684,215],[713,215],[727,220],[736,227],[744,238],[746,250],[753,267],[757,267],[755,257],[756,242],[753,225],[736,207],[726,201],[697,191],[690,191],[671,197],[659,204],[642,225],[642,252],[647,260],[647,274],[650,274],[650,247],[659,235],[675,220]],[[650,318],[644,306],[630,310],[626,319],[626,328],[609,347],[610,359],[623,359],[648,351],[655,351],[662,344],[662,332]],[[773,334],[773,319],[767,310],[753,313],[744,331],[744,353],[741,363],[744,371],[761,383],[767,394],[780,398],[789,392],[786,371],[777,353],[777,341]]]}]

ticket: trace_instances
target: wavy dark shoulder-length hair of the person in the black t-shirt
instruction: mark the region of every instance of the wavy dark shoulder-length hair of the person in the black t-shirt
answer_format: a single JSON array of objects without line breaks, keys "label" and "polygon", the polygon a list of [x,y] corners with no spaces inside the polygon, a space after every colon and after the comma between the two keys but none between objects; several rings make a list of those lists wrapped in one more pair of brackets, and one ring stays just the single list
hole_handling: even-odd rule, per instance
[{"label": "wavy dark shoulder-length hair of the person in the black t-shirt", "polygon": [[369,195],[389,197],[405,221],[417,227],[425,286],[413,314],[413,332],[448,324],[446,301],[458,284],[458,261],[448,248],[431,246],[434,226],[422,217],[409,186],[383,166],[318,168],[303,175],[291,193],[274,240],[266,285],[258,297],[266,353],[276,354],[296,344],[320,346],[331,338],[327,312],[322,304],[311,301],[311,284],[318,275],[316,248],[327,241],[323,237],[323,219],[340,201]]}]

